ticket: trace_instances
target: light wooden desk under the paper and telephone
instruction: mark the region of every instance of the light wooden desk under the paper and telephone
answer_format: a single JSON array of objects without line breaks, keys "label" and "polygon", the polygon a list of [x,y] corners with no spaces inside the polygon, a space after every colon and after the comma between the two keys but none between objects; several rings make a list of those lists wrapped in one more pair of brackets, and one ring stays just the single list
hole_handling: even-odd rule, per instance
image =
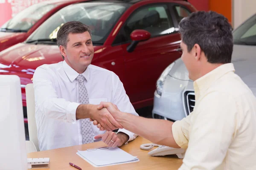
[{"label": "light wooden desk under the paper and telephone", "polygon": [[[105,143],[94,142],[90,144],[82,144],[72,147],[64,147],[53,150],[45,150],[41,152],[28,153],[28,158],[50,158],[50,168],[42,170],[77,170],[70,166],[69,162],[81,167],[82,170],[177,170],[181,164],[182,159],[178,159],[177,155],[169,156],[149,156],[147,150],[141,150],[140,145],[151,143],[148,140],[138,136],[133,141],[120,147],[122,150],[130,153],[132,156],[138,156],[140,161],[128,164],[119,164],[107,167],[93,167],[84,159],[76,154],[77,150],[86,150],[94,147],[106,146]],[[154,147],[156,148],[156,147]],[[99,155],[100,159],[100,155]]]}]

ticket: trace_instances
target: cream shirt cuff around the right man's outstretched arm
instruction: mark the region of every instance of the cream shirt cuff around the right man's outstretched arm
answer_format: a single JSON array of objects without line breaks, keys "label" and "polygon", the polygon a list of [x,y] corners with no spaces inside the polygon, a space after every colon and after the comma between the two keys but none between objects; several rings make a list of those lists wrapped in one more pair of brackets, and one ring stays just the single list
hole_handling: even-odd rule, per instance
[{"label": "cream shirt cuff around the right man's outstretched arm", "polygon": [[172,135],[179,147],[186,149],[188,147],[188,139],[184,136],[182,129],[181,129],[180,121],[176,121],[172,124]]}]

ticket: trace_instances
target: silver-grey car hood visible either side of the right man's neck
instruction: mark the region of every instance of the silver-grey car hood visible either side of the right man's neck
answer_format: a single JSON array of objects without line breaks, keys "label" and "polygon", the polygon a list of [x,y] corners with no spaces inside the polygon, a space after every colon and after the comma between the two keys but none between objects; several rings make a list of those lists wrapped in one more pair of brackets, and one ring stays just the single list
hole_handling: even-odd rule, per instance
[{"label": "silver-grey car hood visible either side of the right man's neck", "polygon": [[[235,67],[235,73],[243,79],[249,87],[256,87],[256,46],[251,45],[234,45],[232,54],[232,63]],[[169,72],[169,76],[176,79],[188,80],[189,74],[186,66],[179,58]]]}]

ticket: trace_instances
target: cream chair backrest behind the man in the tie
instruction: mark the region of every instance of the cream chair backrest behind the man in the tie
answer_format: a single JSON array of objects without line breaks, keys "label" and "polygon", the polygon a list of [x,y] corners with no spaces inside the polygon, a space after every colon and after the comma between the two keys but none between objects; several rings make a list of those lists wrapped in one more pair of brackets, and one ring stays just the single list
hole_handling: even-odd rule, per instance
[{"label": "cream chair backrest behind the man in the tie", "polygon": [[26,85],[26,105],[28,115],[28,127],[29,127],[29,140],[35,144],[35,147],[40,151],[38,146],[37,127],[35,122],[35,92],[33,84]]}]

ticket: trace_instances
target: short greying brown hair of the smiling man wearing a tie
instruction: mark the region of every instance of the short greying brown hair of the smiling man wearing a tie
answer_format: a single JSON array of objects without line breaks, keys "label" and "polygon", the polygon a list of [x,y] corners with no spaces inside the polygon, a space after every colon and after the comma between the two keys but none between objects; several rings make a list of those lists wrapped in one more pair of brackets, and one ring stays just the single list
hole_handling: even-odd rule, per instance
[{"label": "short greying brown hair of the smiling man wearing a tie", "polygon": [[[58,46],[62,45],[64,48],[67,48],[67,42],[69,41],[68,35],[70,33],[76,34],[76,33],[84,33],[88,31],[90,36],[91,35],[91,30],[89,26],[79,22],[79,21],[70,21],[67,23],[64,23],[63,26],[58,30],[57,33],[57,44]],[[64,59],[64,57],[62,56]]]}]

